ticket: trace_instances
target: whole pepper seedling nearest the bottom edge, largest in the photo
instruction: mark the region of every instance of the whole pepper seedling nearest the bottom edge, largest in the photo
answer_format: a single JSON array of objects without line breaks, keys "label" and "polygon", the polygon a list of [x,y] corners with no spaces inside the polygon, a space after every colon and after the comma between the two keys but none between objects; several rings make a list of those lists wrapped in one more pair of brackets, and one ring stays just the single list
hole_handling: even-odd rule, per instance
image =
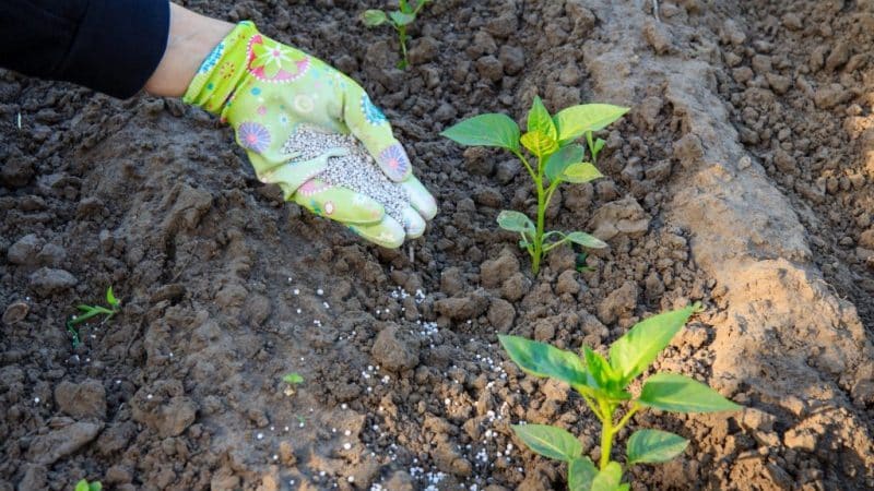
[{"label": "whole pepper seedling nearest the bottom edge, largest in the photo", "polygon": [[[582,454],[582,445],[569,432],[548,424],[517,424],[516,435],[531,451],[568,463],[568,489],[572,491],[627,491],[623,466],[611,460],[613,439],[631,417],[645,408],[673,412],[737,410],[741,406],[707,385],[685,375],[659,372],[645,382],[638,397],[628,385],[656,360],[700,304],[649,318],[616,339],[610,360],[582,347],[582,357],[547,344],[517,336],[498,336],[504,349],[525,373],[553,378],[577,391],[601,421],[599,466]],[[616,411],[625,407],[617,418]],[[631,433],[626,444],[626,466],[669,462],[682,454],[688,441],[677,434],[652,429]]]}]

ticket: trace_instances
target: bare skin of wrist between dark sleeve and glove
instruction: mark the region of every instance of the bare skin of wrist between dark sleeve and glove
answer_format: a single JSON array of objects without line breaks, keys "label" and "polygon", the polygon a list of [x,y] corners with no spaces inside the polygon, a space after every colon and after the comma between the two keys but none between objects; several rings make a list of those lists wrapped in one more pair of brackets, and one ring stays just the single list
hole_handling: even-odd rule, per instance
[{"label": "bare skin of wrist between dark sleeve and glove", "polygon": [[156,96],[181,97],[203,60],[234,28],[234,24],[210,19],[170,3],[167,49],[145,83]]}]

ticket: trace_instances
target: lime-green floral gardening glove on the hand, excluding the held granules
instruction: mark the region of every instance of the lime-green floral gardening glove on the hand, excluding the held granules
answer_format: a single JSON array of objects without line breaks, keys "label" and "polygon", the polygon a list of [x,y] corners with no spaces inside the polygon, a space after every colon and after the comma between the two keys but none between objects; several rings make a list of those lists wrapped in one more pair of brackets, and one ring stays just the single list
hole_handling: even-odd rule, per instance
[{"label": "lime-green floral gardening glove on the hand, excluding the held granules", "polygon": [[[364,89],[323,61],[260,34],[241,22],[206,57],[184,100],[221,116],[234,127],[262,182],[279,184],[285,200],[347,225],[367,240],[397,248],[420,237],[437,203],[412,175],[403,146]],[[318,179],[328,158],[290,161],[283,146],[299,125],[352,133],[382,172],[408,192],[412,209],[404,223],[386,215],[381,203]],[[368,164],[369,165],[369,164]]]}]

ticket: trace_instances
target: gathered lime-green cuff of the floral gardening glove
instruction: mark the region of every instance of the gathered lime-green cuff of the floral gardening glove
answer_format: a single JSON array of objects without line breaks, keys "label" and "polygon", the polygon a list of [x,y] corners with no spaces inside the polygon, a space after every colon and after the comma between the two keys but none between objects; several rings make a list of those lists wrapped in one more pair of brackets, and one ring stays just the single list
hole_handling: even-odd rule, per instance
[{"label": "gathered lime-green cuff of the floral gardening glove", "polygon": [[237,24],[203,60],[188,85],[182,101],[220,115],[224,121],[225,112],[234,99],[234,92],[246,75],[249,41],[258,34],[250,21]]}]

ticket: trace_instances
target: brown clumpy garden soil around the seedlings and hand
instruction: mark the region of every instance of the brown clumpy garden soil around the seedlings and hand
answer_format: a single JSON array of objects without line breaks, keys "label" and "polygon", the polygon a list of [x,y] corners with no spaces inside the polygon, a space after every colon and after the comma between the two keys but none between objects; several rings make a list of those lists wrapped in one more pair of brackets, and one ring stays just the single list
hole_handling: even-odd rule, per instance
[{"label": "brown clumpy garden soil around the seedlings and hand", "polygon": [[[406,71],[358,3],[187,5],[363,83],[440,203],[398,251],[283,204],[178,100],[0,73],[0,490],[560,489],[509,424],[597,456],[592,415],[496,335],[603,350],[690,301],[656,368],[747,409],[636,416],[692,444],[634,489],[874,488],[874,2],[442,0]],[[532,208],[518,163],[438,136],[534,95],[633,108],[550,209],[609,240],[589,272],[532,276],[494,221]]]}]

